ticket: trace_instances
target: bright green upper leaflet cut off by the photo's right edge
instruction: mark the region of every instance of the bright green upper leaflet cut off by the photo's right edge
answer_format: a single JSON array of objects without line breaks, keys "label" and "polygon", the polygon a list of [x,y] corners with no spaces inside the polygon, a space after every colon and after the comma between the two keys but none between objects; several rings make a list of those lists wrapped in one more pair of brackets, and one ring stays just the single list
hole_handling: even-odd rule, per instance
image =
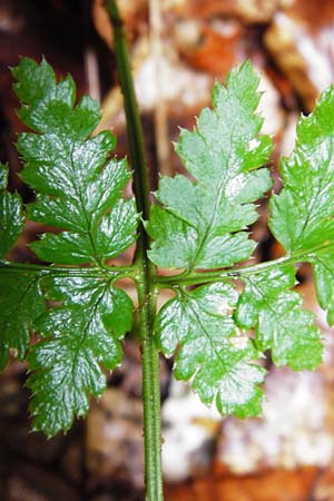
[{"label": "bright green upper leaflet cut off by the photo's right edge", "polygon": [[313,265],[321,306],[334,322],[334,87],[297,126],[296,147],[281,163],[284,188],[271,200],[269,226],[288,255]]}]

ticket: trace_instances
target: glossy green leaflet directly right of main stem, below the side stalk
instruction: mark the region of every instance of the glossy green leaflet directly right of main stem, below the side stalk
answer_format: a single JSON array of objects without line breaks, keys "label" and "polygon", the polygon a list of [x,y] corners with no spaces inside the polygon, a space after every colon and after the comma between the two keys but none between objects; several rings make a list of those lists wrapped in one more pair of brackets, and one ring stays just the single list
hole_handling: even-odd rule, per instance
[{"label": "glossy green leaflet directly right of main stem, below the side stalk", "polygon": [[160,310],[156,333],[167,356],[177,351],[177,379],[193,377],[203,402],[215,401],[220,413],[245,418],[261,412],[266,371],[254,363],[259,353],[236,328],[237,297],[227,283],[180,289]]}]

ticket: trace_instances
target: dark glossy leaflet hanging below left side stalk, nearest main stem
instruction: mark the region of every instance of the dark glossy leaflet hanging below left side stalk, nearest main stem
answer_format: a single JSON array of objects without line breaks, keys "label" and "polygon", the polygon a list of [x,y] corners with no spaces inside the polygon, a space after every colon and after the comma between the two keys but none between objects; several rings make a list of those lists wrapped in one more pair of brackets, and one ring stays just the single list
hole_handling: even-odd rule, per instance
[{"label": "dark glossy leaflet hanging below left side stalk, nearest main stem", "polygon": [[121,361],[119,340],[131,326],[132,302],[98,278],[48,277],[50,301],[62,301],[38,324],[41,341],[29,354],[33,428],[48,436],[67,431],[88,412],[89,395],[100,396],[106,377]]}]

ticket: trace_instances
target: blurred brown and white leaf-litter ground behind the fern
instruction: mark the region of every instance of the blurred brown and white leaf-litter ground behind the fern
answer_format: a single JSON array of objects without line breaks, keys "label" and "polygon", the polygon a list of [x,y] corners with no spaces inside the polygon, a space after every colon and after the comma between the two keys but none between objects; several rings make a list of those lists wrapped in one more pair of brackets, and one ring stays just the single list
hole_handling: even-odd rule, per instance
[{"label": "blurred brown and white leaf-litter ground behind the fern", "polygon": [[[119,0],[130,43],[151,188],[157,171],[183,171],[171,141],[193,127],[209,104],[215,79],[250,59],[261,71],[264,131],[275,136],[271,166],[279,189],[278,158],[295,141],[301,112],[313,109],[334,81],[333,0]],[[45,55],[59,77],[70,72],[78,95],[102,107],[99,129],[128,153],[112,36],[102,0],[0,0],[0,160],[10,188],[31,191],[17,176],[13,144],[22,130],[8,67],[19,56]],[[278,257],[266,227],[267,206],[252,228],[255,259]],[[28,223],[11,258],[36,261],[27,244],[46,228]],[[128,262],[131,250],[121,259]],[[219,418],[170,375],[161,360],[166,501],[334,501],[334,332],[316,305],[310,269],[298,272],[305,306],[324,332],[323,365],[313,373],[269,375],[262,419]],[[131,288],[129,294],[134,295]],[[160,304],[166,299],[161,294]],[[87,421],[46,440],[30,432],[26,366],[11,361],[0,376],[1,501],[143,500],[144,448],[140,354],[129,335],[122,366],[109,377]]]}]

